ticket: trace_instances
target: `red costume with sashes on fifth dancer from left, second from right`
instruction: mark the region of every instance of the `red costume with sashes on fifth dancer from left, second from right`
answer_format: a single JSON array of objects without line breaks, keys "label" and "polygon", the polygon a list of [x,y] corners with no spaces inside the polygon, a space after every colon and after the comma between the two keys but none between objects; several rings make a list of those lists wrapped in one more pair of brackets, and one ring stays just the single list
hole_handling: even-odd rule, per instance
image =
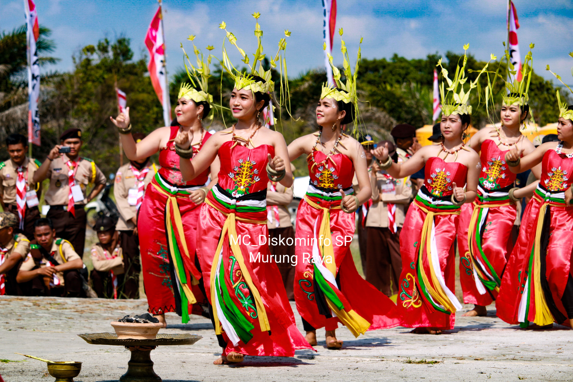
[{"label": "red costume with sashes on fifth dancer from left, second from right", "polygon": [[496,299],[505,263],[513,249],[511,230],[517,210],[508,192],[516,174],[505,163],[507,152],[490,139],[481,144],[483,167],[477,199],[461,208],[458,249],[465,304],[486,306]]}]

